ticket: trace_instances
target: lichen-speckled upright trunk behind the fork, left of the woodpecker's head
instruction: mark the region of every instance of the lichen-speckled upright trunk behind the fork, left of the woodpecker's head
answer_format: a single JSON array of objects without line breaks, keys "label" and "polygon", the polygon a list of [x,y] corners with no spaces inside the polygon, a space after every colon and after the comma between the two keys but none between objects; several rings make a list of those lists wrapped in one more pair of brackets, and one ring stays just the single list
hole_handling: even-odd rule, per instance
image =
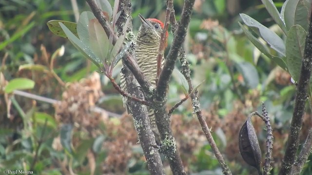
[{"label": "lichen-speckled upright trunk behind the fork, left of the woodpecker's head", "polygon": [[[118,11],[121,11],[121,13],[116,23],[117,32],[119,34],[122,33],[122,29],[127,18],[131,17],[131,10],[132,10],[131,0],[119,1]],[[128,30],[127,30],[128,32],[132,32],[132,22],[130,23],[131,24],[128,26]],[[130,53],[133,53],[133,48],[132,50],[129,51],[129,54],[125,55],[124,57],[130,58],[130,56],[132,56]],[[125,63],[125,60],[132,60],[133,63],[136,63],[134,62],[134,59],[123,59],[123,63]],[[122,70],[122,72],[124,73],[124,78],[125,78],[127,89],[129,92],[132,92],[135,97],[139,97],[139,99],[144,99],[144,94],[140,90],[138,82],[134,78],[134,74],[133,74],[137,72],[141,73],[141,71],[139,71],[137,67],[138,71],[134,71],[133,73],[131,73],[130,71],[131,69],[129,68],[124,67]],[[150,86],[148,82],[146,82],[146,84]],[[147,160],[148,169],[151,175],[165,175],[165,171],[161,162],[158,148],[156,147],[155,136],[151,129],[151,123],[148,117],[148,111],[147,111],[146,105],[142,105],[140,104],[140,102],[133,101],[130,99],[128,99],[128,105],[130,106],[129,108],[134,118],[134,123],[137,129],[138,138],[140,140],[140,144],[143,149],[144,156]]]}]

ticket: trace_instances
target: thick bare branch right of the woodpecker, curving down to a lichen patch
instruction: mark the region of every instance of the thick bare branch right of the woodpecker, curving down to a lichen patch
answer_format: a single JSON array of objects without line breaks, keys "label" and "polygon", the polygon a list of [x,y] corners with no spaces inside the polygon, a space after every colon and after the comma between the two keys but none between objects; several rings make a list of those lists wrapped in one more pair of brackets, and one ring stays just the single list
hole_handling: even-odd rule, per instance
[{"label": "thick bare branch right of the woodpecker, curving down to a lichen patch", "polygon": [[187,27],[193,11],[194,1],[195,0],[186,0],[184,2],[180,23],[177,27],[177,32],[174,37],[169,54],[167,55],[165,65],[160,73],[159,81],[156,87],[156,95],[154,98],[156,125],[161,137],[160,148],[167,157],[170,168],[174,175],[186,175],[186,173],[179,151],[176,148],[176,140],[173,137],[172,130],[170,128],[170,119],[166,111],[166,93],[172,71],[175,68],[177,53],[185,39]]}]

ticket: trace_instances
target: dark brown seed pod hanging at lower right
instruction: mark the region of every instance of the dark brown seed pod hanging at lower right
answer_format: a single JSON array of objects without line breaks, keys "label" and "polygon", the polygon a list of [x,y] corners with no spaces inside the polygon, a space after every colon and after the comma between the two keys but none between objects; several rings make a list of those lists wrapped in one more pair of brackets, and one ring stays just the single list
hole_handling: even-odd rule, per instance
[{"label": "dark brown seed pod hanging at lower right", "polygon": [[261,150],[254,126],[251,122],[251,115],[240,128],[238,146],[240,155],[243,157],[245,162],[255,167],[258,171],[258,174],[262,175],[260,169]]}]

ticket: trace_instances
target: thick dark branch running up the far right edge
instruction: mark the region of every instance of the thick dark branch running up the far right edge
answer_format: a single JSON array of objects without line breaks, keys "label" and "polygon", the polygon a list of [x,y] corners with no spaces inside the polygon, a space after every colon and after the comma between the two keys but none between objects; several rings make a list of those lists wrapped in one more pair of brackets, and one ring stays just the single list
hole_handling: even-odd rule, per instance
[{"label": "thick dark branch running up the far right edge", "polygon": [[292,165],[299,146],[299,134],[302,127],[305,103],[308,97],[307,90],[311,77],[312,66],[312,18],[310,18],[304,57],[301,62],[300,76],[296,88],[296,99],[292,114],[292,123],[288,136],[288,143],[279,175],[291,175]]}]

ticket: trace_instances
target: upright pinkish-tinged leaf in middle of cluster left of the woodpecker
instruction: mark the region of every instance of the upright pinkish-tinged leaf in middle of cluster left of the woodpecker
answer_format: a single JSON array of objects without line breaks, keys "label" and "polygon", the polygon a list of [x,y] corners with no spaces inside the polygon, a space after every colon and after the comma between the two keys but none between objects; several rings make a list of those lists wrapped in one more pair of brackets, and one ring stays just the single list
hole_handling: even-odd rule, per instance
[{"label": "upright pinkish-tinged leaf in middle of cluster left of the woodpecker", "polygon": [[98,19],[89,21],[90,48],[100,59],[105,60],[108,51],[108,37]]}]

